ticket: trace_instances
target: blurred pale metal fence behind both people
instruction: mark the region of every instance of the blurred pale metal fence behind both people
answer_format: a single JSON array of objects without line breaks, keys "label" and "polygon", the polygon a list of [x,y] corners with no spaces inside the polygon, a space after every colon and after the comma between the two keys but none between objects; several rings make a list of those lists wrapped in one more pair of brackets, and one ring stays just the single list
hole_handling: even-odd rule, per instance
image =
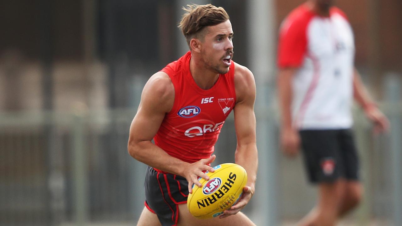
[{"label": "blurred pale metal fence behind both people", "polygon": [[[389,84],[392,86],[392,82]],[[395,87],[394,87],[395,88]],[[390,134],[373,136],[367,119],[356,117],[355,133],[362,162],[365,199],[352,218],[356,225],[401,225],[402,104],[398,86],[390,102],[380,106],[390,118]],[[275,109],[256,109],[257,121],[268,120],[269,144],[278,154],[278,225],[306,214],[315,202],[314,188],[306,183],[301,158],[279,154]],[[129,125],[134,109],[0,114],[0,225],[88,225],[103,222],[133,225],[143,208],[146,166],[127,153]],[[225,123],[216,145],[215,164],[234,161],[233,117]],[[259,152],[265,152],[260,148]],[[272,160],[272,159],[271,159]],[[260,164],[266,159],[260,158]],[[260,186],[261,187],[261,186]],[[265,213],[260,189],[244,209],[258,222]],[[272,203],[271,203],[272,204]],[[393,223],[394,222],[394,223]]]}]

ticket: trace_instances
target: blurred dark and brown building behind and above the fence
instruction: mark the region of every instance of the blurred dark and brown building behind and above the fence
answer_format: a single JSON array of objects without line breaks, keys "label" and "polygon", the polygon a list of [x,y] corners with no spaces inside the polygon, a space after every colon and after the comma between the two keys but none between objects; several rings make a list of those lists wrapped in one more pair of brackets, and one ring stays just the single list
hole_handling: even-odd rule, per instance
[{"label": "blurred dark and brown building behind and above the fence", "polygon": [[[276,31],[301,0],[276,1]],[[235,31],[236,61],[247,66],[244,0],[216,0]],[[336,1],[356,36],[356,64],[376,84],[384,72],[402,70],[402,3]],[[175,1],[6,1],[1,20],[0,109],[70,109],[130,105],[134,75],[148,78],[180,56]],[[24,16],[21,16],[24,15]],[[261,25],[263,26],[263,25]],[[49,90],[53,95],[44,97]],[[47,100],[50,98],[51,100]],[[51,103],[51,104],[49,104]]]}]

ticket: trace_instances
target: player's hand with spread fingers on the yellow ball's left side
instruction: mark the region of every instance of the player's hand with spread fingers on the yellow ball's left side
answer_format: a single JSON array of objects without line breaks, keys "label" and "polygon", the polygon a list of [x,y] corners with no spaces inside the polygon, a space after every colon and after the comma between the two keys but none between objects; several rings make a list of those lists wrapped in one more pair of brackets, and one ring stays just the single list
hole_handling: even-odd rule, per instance
[{"label": "player's hand with spread fingers on the yellow ball's left side", "polygon": [[215,160],[216,156],[213,154],[209,158],[203,158],[197,162],[187,165],[183,171],[184,177],[189,182],[189,193],[193,192],[193,184],[201,187],[201,183],[198,181],[198,177],[202,177],[205,180],[209,180],[209,177],[204,173],[206,171],[214,172],[215,170],[209,166]]}]

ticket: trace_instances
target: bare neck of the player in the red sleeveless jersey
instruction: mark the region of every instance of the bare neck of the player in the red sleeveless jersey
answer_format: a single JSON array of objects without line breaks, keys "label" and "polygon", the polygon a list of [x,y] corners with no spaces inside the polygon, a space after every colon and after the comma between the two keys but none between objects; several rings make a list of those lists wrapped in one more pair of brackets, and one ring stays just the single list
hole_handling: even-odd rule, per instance
[{"label": "bare neck of the player in the red sleeveless jersey", "polygon": [[203,63],[193,57],[190,60],[190,72],[197,86],[203,90],[212,88],[219,78],[218,73],[208,70]]}]

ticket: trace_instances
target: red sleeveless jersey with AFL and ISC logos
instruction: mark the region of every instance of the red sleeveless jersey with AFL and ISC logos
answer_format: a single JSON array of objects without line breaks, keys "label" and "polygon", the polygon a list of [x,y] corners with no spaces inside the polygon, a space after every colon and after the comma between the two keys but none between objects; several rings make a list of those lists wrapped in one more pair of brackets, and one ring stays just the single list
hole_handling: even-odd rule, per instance
[{"label": "red sleeveless jersey with AFL and ISC logos", "polygon": [[174,104],[154,137],[156,146],[185,162],[209,158],[221,128],[234,108],[234,62],[208,90],[201,89],[190,72],[191,52],[162,69],[172,80]]}]

